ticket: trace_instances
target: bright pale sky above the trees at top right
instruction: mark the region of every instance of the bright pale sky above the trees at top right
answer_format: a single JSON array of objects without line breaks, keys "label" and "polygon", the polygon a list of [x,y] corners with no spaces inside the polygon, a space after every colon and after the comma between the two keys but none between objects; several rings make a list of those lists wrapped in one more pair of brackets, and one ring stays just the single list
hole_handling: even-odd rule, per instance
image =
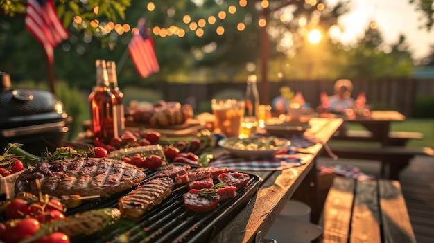
[{"label": "bright pale sky above the trees at top right", "polygon": [[[329,3],[337,0],[329,0]],[[367,26],[376,21],[378,29],[383,34],[387,44],[397,43],[399,35],[406,36],[414,59],[427,57],[430,54],[430,44],[434,45],[434,28],[431,33],[424,25],[422,12],[415,10],[415,5],[409,0],[351,0],[351,12],[340,17],[345,32],[340,39],[352,44],[363,37]]]}]

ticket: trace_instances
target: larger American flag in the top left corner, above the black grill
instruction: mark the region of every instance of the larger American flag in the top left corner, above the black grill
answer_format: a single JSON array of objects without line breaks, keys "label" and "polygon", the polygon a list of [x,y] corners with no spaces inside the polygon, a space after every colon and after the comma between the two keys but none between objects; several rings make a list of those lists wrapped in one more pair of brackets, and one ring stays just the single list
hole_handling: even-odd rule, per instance
[{"label": "larger American flag in the top left corner, above the black grill", "polygon": [[44,46],[49,62],[53,63],[53,49],[69,37],[58,19],[53,0],[28,0],[26,28]]}]

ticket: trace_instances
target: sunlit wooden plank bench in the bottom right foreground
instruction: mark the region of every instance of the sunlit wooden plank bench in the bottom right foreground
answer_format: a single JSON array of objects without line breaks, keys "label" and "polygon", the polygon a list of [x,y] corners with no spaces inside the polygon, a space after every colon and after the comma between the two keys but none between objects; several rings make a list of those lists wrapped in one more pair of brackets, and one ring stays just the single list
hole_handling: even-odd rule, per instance
[{"label": "sunlit wooden plank bench in the bottom right foreground", "polygon": [[336,177],[319,224],[323,243],[416,242],[399,181]]}]

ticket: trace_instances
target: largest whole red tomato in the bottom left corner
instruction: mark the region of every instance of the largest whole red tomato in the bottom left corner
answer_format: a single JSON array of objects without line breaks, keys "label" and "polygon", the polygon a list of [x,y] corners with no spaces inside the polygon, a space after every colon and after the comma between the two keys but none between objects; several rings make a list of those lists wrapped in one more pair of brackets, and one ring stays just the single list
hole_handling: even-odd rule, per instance
[{"label": "largest whole red tomato in the bottom left corner", "polygon": [[6,242],[21,242],[21,240],[31,237],[41,228],[40,222],[33,217],[26,217],[16,222],[6,223],[7,239]]}]

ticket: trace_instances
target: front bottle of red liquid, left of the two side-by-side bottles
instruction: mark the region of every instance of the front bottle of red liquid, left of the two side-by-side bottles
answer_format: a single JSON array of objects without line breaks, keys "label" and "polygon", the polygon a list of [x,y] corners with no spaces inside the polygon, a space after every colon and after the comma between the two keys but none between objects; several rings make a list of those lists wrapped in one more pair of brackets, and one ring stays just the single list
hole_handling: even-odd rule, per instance
[{"label": "front bottle of red liquid, left of the two side-by-side bottles", "polygon": [[96,87],[89,95],[92,129],[95,145],[107,145],[114,137],[113,104],[115,96],[110,91],[105,60],[98,59]]}]

